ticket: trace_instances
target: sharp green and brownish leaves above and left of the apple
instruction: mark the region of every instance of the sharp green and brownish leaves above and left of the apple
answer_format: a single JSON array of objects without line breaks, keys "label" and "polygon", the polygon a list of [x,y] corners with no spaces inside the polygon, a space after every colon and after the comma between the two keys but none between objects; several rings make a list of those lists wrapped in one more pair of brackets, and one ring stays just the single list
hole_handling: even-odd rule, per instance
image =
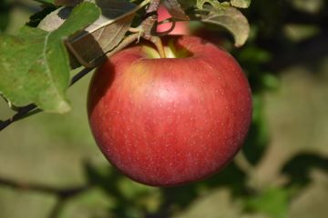
[{"label": "sharp green and brownish leaves above and left of the apple", "polygon": [[[84,3],[59,0],[39,2],[63,7],[46,15],[42,20],[38,18],[40,21],[38,28],[29,28],[28,32],[32,34],[26,34],[23,30],[19,35],[1,36],[0,60],[1,68],[4,70],[0,75],[2,78],[0,93],[9,105],[15,107],[36,104],[46,112],[65,113],[70,109],[65,94],[69,84],[67,65],[69,60],[72,68],[79,64],[87,67],[97,66],[99,59],[103,59],[104,55],[114,50],[118,44],[125,44],[123,39],[125,36],[128,37],[128,28],[134,16],[149,1],[146,0],[139,6],[118,0]],[[177,1],[166,0],[165,3],[169,5],[169,12],[174,15],[173,18],[188,18]],[[204,4],[205,2],[198,3],[200,8]],[[77,6],[71,11],[70,8],[65,7],[67,5]],[[102,11],[100,16],[97,7]],[[233,7],[219,8],[214,5],[213,8],[193,11],[192,15],[195,19],[227,27],[235,35],[236,45],[244,44],[247,39],[249,33],[247,20]],[[33,19],[35,20],[36,17]],[[67,25],[68,28],[74,25],[74,28],[70,27],[70,32],[64,31],[63,34],[59,34],[59,31],[67,29],[65,27]],[[146,31],[142,30],[142,27],[139,29],[139,35]],[[39,33],[33,34],[34,32]],[[72,54],[70,59],[64,54],[64,42]],[[16,58],[13,54],[26,56],[29,59],[23,61],[23,58]],[[61,58],[51,58],[55,56]],[[79,64],[74,63],[74,59],[77,59]],[[30,65],[31,63],[35,64]],[[9,72],[14,73],[9,74]],[[19,89],[13,88],[13,85],[18,86]]]}]

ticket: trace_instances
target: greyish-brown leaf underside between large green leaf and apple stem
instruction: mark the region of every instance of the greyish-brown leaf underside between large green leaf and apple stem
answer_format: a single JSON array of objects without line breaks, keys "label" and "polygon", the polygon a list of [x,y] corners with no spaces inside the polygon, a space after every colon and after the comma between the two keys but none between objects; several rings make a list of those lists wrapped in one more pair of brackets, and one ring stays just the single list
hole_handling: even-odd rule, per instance
[{"label": "greyish-brown leaf underside between large green leaf and apple stem", "polygon": [[[97,6],[102,10],[97,21],[82,33],[67,39],[69,51],[86,67],[93,67],[99,58],[122,41],[138,10],[136,5],[121,0],[97,0]],[[69,15],[69,10],[68,7],[62,8],[60,15],[64,16],[60,17],[56,12],[48,15],[40,27],[61,25],[66,19],[65,14]]]}]

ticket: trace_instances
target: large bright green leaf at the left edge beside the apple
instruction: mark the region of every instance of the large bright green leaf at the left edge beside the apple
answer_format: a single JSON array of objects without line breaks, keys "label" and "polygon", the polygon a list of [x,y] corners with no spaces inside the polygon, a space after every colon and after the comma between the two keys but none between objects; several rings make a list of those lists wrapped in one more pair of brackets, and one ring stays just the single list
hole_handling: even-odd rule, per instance
[{"label": "large bright green leaf at the left edge beside the apple", "polygon": [[70,68],[63,39],[99,14],[96,5],[83,3],[56,31],[26,26],[19,35],[0,35],[0,94],[16,106],[34,103],[46,112],[67,112]]}]

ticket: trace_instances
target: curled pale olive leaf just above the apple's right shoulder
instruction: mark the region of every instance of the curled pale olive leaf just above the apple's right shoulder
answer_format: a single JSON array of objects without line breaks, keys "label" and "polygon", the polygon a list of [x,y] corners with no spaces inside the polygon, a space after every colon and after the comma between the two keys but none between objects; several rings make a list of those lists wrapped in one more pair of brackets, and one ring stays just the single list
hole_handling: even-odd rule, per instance
[{"label": "curled pale olive leaf just above the apple's right shoulder", "polygon": [[203,22],[221,25],[231,32],[235,39],[235,46],[244,45],[250,35],[250,25],[244,15],[234,7],[215,8],[206,5],[197,12]]}]

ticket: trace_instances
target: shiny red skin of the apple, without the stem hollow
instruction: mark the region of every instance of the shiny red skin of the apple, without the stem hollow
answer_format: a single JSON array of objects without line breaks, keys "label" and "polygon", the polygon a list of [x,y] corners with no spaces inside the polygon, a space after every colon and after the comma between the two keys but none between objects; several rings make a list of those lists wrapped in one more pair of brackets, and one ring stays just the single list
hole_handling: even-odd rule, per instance
[{"label": "shiny red skin of the apple, without the stem hollow", "polygon": [[[251,123],[251,89],[231,54],[195,36],[169,36],[184,58],[151,45],[113,55],[94,74],[89,124],[108,161],[132,180],[175,186],[218,173]],[[181,52],[182,51],[182,52]]]}]

